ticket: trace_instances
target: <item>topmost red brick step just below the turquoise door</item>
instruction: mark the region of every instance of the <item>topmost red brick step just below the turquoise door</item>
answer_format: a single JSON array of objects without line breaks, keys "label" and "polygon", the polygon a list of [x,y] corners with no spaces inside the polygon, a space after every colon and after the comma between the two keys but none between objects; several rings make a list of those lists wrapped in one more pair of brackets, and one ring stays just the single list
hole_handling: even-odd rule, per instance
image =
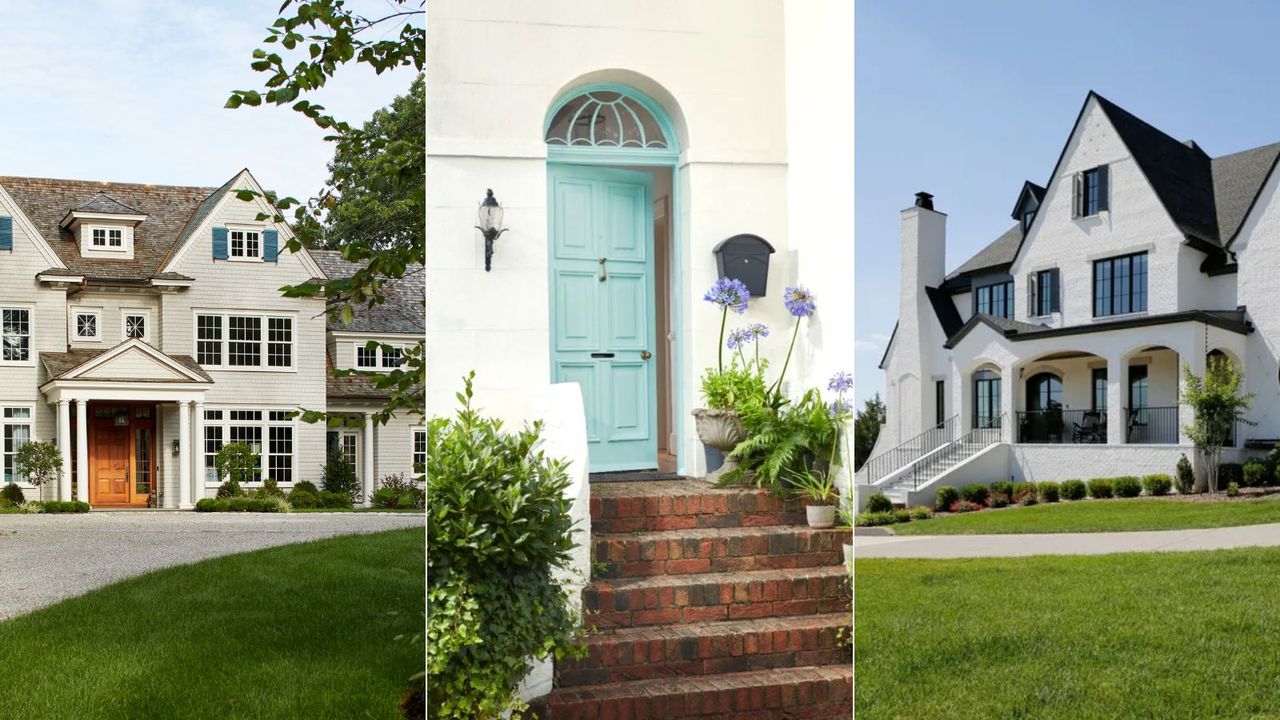
[{"label": "topmost red brick step just below the turquoise door", "polygon": [[788,525],[804,507],[768,491],[716,488],[703,480],[600,483],[591,487],[591,533]]}]

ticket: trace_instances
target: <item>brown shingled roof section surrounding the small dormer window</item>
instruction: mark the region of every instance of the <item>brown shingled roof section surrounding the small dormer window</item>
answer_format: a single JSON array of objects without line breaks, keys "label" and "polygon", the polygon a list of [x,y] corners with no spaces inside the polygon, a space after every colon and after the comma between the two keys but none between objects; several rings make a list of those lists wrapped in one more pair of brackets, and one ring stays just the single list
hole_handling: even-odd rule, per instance
[{"label": "brown shingled roof section surrounding the small dormer window", "polygon": [[[214,188],[97,182],[55,178],[0,177],[18,208],[35,229],[58,254],[67,269],[88,279],[142,282],[160,272],[174,238],[187,225]],[[133,233],[133,259],[82,258],[74,234],[61,227],[68,210],[84,202],[99,202],[102,193],[131,214],[147,215]]]}]

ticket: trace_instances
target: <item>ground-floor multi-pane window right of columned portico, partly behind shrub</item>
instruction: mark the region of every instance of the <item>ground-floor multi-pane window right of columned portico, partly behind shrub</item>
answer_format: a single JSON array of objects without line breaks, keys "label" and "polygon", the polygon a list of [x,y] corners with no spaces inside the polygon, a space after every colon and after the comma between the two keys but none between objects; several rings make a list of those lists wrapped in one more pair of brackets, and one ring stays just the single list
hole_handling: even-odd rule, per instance
[{"label": "ground-floor multi-pane window right of columned portico, partly behind shrub", "polygon": [[225,442],[242,442],[259,454],[252,482],[264,470],[278,483],[292,483],[296,473],[293,413],[289,410],[205,410],[205,482],[216,483],[218,451]]}]

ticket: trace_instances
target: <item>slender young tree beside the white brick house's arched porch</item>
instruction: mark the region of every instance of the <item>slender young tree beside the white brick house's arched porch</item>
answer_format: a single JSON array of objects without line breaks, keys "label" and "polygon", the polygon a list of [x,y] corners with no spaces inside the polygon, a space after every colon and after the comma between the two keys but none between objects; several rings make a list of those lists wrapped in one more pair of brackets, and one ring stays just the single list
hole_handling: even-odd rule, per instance
[{"label": "slender young tree beside the white brick house's arched porch", "polygon": [[1183,397],[1196,411],[1192,424],[1183,429],[1204,461],[1208,492],[1217,492],[1217,469],[1231,428],[1236,423],[1254,424],[1244,416],[1253,405],[1253,393],[1240,393],[1240,373],[1226,357],[1210,357],[1203,379],[1184,363],[1183,384]]}]

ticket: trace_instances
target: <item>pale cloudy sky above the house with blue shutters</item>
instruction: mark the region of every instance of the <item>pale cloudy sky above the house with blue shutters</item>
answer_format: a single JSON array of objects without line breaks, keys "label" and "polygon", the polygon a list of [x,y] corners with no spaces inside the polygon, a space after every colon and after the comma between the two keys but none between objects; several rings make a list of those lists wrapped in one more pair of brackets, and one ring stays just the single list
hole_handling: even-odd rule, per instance
[{"label": "pale cloudy sky above the house with blue shutters", "polygon": [[[384,0],[351,0],[374,14]],[[280,0],[0,4],[0,174],[219,186],[250,168],[302,199],[328,176],[324,131],[282,108],[224,110],[260,88],[253,49]],[[392,28],[396,32],[398,28]],[[408,69],[339,72],[312,101],[364,122]]]}]

